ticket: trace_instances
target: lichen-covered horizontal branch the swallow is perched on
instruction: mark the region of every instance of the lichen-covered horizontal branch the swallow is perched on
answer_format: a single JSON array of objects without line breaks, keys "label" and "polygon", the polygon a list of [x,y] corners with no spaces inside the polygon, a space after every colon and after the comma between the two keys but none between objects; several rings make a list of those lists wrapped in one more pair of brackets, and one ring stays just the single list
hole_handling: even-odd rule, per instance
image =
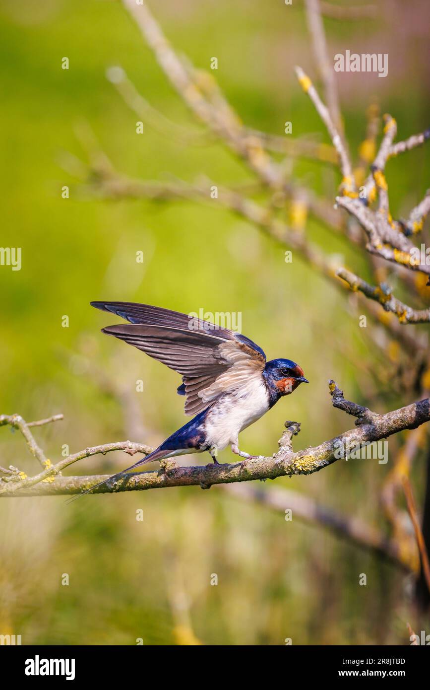
[{"label": "lichen-covered horizontal branch the swallow is perched on", "polygon": [[[279,450],[269,457],[258,457],[256,460],[245,460],[234,464],[208,464],[203,466],[178,466],[174,461],[162,462],[157,471],[112,477],[110,482],[94,488],[94,493],[119,493],[122,491],[142,491],[145,489],[163,489],[168,486],[201,486],[209,489],[213,484],[230,484],[254,480],[276,479],[299,474],[312,474],[336,462],[341,457],[340,448],[381,440],[405,429],[417,428],[430,420],[430,399],[421,400],[406,407],[377,415],[367,408],[345,401],[342,391],[336,384],[329,383],[334,406],[358,417],[358,426],[338,437],[325,441],[315,447],[294,452],[291,439],[298,434],[300,425],[286,422],[287,429],[279,440]],[[74,455],[63,458],[57,464],[45,469],[34,477],[2,477],[0,495],[33,496],[78,494],[91,489],[107,477],[62,477],[59,471],[72,463],[90,455],[123,450],[130,455],[150,453],[151,449],[143,444],[116,442],[87,448]]]}]

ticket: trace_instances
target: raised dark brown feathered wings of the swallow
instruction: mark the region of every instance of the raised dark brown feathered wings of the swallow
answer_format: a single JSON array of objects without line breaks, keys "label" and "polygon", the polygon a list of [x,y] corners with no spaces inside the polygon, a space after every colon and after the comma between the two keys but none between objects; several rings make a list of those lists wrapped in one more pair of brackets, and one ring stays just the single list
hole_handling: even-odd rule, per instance
[{"label": "raised dark brown feathered wings of the swallow", "polygon": [[265,368],[263,350],[227,328],[148,304],[91,304],[130,322],[107,326],[103,333],[125,340],[182,375],[186,415],[203,411],[219,395],[240,388]]}]

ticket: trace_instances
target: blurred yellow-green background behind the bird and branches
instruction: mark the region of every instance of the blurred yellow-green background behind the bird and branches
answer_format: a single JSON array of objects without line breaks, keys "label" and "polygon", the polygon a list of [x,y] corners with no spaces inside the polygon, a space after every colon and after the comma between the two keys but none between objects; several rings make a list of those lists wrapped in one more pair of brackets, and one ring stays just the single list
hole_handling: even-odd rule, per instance
[{"label": "blurred yellow-green background behind the bird and branches", "polygon": [[[400,139],[428,126],[427,3],[378,5],[375,21],[326,21],[333,54],[346,48],[389,54],[386,79],[338,75],[354,155],[369,103],[396,117]],[[294,79],[295,64],[316,74],[300,2],[163,0],[151,7],[198,68],[218,57],[214,75],[248,126],[283,135],[292,121],[294,137],[310,133],[328,143]],[[289,357],[303,366],[310,386],[241,435],[248,452],[274,452],[286,419],[302,422],[296,449],[349,428],[351,420],[331,408],[327,380],[360,399],[373,386],[378,360],[349,313],[347,295],[297,255],[286,264],[285,248],[215,204],[84,199],[64,169],[66,152],[85,159],[76,132],[86,122],[116,168],[133,177],[252,181],[215,141],[194,146],[150,126],[136,135],[136,116],[105,79],[109,66],[123,66],[170,120],[190,127],[194,121],[121,3],[3,0],[0,27],[6,67],[0,244],[21,246],[23,262],[17,272],[0,268],[0,413],[26,420],[64,413],[63,422],[35,431],[53,461],[64,444],[74,452],[132,436],[156,445],[181,426],[179,377],[100,334],[115,319],[89,302],[115,299],[186,313],[240,313],[243,333],[269,359]],[[63,57],[69,70],[61,69]],[[390,162],[393,215],[406,215],[422,198],[426,171],[428,180],[428,148]],[[329,197],[339,181],[330,168],[305,161],[294,175]],[[63,185],[70,186],[69,199],[61,198]],[[360,270],[339,238],[313,222],[307,232]],[[138,250],[143,264],[136,263]],[[61,326],[63,315],[69,328]],[[143,393],[135,391],[138,379]],[[396,397],[389,381],[385,394],[387,404],[411,402]],[[390,441],[392,449],[396,444]],[[0,430],[0,457],[3,466],[34,469],[10,428]],[[223,451],[221,462],[231,459]],[[127,460],[123,453],[91,457],[70,473],[113,473]],[[378,488],[388,469],[369,460],[336,463],[276,485],[384,528]],[[220,487],[97,495],[72,505],[64,497],[5,500],[0,519],[0,633],[21,634],[23,644],[405,639],[408,582],[398,570],[318,526],[285,522],[283,513],[242,503]],[[63,573],[69,586],[61,584]],[[359,573],[367,573],[367,586],[358,585]]]}]

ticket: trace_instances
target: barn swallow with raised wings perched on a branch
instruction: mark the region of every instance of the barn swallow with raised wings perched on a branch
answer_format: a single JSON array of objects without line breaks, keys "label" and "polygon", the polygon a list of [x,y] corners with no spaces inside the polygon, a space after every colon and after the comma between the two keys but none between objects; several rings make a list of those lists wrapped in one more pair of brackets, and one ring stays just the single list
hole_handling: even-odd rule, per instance
[{"label": "barn swallow with raised wings perched on a branch", "polygon": [[182,375],[177,392],[185,396],[185,415],[194,417],[152,453],[114,477],[147,462],[185,453],[209,451],[218,462],[217,452],[228,445],[240,457],[255,458],[239,450],[240,431],[260,419],[280,397],[309,383],[296,362],[267,362],[258,345],[227,328],[147,304],[91,304],[129,322],[102,328],[102,333],[134,345]]}]

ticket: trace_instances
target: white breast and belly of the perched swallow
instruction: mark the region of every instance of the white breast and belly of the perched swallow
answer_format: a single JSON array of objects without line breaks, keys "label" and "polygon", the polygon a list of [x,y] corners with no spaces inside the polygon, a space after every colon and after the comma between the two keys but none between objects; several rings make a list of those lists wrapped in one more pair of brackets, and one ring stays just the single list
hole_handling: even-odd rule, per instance
[{"label": "white breast and belly of the perched swallow", "polygon": [[219,450],[235,442],[240,431],[254,424],[269,409],[269,393],[260,375],[249,377],[244,386],[227,393],[207,413],[207,442]]}]

